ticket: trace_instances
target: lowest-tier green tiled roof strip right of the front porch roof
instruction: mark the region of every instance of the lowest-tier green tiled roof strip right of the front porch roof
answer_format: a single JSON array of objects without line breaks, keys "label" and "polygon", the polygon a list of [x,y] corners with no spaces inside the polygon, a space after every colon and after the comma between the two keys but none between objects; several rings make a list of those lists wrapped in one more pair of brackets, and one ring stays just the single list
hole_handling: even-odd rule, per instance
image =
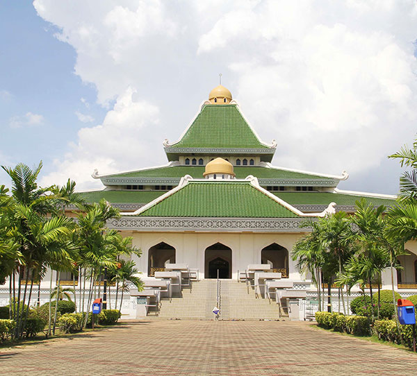
[{"label": "lowest-tier green tiled roof strip right of the front porch roof", "polygon": [[366,198],[373,205],[392,205],[394,200],[389,198],[376,198],[366,196],[354,196],[352,194],[333,194],[328,192],[272,192],[291,205],[354,205],[357,200]]}]

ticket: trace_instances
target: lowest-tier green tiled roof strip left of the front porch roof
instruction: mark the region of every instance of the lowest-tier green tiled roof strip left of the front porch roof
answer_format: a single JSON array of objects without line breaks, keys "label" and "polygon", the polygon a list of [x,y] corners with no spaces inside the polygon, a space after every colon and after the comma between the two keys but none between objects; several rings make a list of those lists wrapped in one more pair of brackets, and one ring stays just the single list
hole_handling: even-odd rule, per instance
[{"label": "lowest-tier green tiled roof strip left of the front porch roof", "polygon": [[90,191],[81,192],[88,203],[98,203],[105,198],[109,203],[150,203],[164,191]]}]

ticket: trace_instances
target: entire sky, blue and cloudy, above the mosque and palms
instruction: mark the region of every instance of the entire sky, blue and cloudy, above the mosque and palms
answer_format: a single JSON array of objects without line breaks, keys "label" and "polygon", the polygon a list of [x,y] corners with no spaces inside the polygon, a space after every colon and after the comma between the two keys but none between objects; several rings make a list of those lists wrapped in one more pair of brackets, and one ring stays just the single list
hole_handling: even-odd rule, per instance
[{"label": "entire sky, blue and cloudy, above the mosque and palms", "polygon": [[[210,90],[230,89],[277,166],[394,194],[416,135],[417,3],[35,0],[0,5],[1,164],[100,187],[166,163]],[[1,181],[6,182],[4,173]]]}]

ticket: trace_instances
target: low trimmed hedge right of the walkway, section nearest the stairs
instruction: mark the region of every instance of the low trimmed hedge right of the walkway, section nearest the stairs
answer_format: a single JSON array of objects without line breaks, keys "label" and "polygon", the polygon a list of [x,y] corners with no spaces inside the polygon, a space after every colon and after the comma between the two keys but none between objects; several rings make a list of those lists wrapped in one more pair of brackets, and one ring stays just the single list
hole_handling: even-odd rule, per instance
[{"label": "low trimmed hedge right of the walkway, section nearest the stairs", "polygon": [[355,336],[368,336],[370,334],[370,321],[365,316],[345,316],[337,312],[316,312],[318,326],[333,329],[337,332],[346,332]]}]

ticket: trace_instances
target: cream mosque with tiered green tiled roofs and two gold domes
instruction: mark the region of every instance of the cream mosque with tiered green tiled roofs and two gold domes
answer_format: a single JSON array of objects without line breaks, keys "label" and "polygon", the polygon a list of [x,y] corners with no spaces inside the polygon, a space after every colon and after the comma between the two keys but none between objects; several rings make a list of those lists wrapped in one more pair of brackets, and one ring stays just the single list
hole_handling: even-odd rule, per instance
[{"label": "cream mosque with tiered green tiled roofs and two gold domes", "polygon": [[[291,259],[300,223],[338,210],[354,211],[366,198],[391,205],[395,196],[338,189],[341,175],[299,171],[271,164],[277,142],[263,142],[231,92],[211,90],[176,142],[163,142],[168,163],[110,175],[97,170],[104,189],[84,193],[105,198],[122,218],[109,226],[133,237],[142,249],[135,259],[143,278],[166,264],[187,264],[199,277],[237,279],[249,264],[270,264],[291,281],[304,281]],[[417,253],[415,244],[411,252]],[[417,257],[400,260],[398,285],[417,288]],[[391,284],[388,276],[384,285]]]}]

